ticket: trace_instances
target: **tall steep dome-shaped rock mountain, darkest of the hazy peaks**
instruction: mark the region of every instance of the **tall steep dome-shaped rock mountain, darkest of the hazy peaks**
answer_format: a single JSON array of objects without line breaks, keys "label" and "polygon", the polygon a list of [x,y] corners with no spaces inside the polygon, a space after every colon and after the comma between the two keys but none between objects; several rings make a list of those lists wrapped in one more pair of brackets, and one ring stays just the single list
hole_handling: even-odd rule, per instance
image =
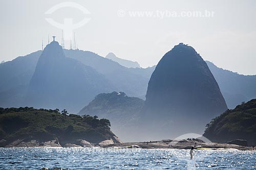
[{"label": "tall steep dome-shaped rock mountain, darkest of the hazy peaks", "polygon": [[162,57],[148,82],[142,121],[153,140],[202,134],[205,124],[226,109],[205,61],[180,43]]}]

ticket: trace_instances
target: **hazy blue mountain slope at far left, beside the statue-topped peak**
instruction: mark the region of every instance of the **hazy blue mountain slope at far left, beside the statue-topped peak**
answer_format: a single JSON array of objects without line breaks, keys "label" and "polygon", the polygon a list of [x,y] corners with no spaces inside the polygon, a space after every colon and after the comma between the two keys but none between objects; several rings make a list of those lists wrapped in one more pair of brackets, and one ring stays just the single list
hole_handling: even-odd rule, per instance
[{"label": "hazy blue mountain slope at far left, beside the statue-topped peak", "polygon": [[26,90],[42,51],[0,64],[0,106],[23,106]]}]

